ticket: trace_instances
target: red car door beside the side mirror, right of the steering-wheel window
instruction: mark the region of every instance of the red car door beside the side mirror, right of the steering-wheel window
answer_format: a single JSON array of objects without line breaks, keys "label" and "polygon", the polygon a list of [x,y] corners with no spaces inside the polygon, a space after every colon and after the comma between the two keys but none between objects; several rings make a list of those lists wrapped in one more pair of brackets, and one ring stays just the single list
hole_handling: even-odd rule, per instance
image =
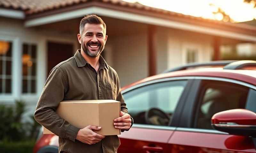
[{"label": "red car door beside the side mirror, right of the steering-wheel window", "polygon": [[256,152],[252,138],[229,135],[211,127],[215,113],[236,108],[256,112],[255,89],[236,80],[196,77],[193,90],[197,92],[188,95],[179,127],[168,141],[171,152]]}]

